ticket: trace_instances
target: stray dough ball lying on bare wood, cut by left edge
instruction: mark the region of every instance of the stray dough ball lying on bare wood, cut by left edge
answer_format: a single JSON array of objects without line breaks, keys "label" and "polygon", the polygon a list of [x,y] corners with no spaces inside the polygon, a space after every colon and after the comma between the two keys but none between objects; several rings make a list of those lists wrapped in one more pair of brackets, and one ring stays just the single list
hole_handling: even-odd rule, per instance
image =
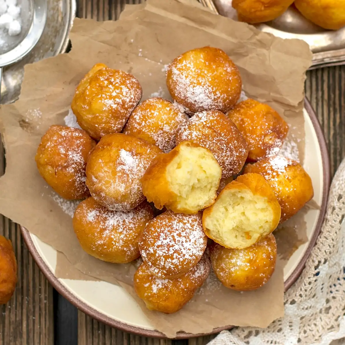
[{"label": "stray dough ball lying on bare wood, cut by left edge", "polygon": [[17,260],[11,241],[0,236],[0,304],[10,300],[17,280]]}]

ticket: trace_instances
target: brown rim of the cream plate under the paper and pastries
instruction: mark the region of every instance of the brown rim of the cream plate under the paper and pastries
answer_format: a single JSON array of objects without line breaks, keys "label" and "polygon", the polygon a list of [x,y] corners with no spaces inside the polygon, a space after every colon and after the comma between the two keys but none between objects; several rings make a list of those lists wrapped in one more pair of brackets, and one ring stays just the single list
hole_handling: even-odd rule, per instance
[{"label": "brown rim of the cream plate under the paper and pastries", "polygon": [[[326,145],[326,140],[324,138],[321,126],[319,124],[319,121],[316,117],[315,111],[313,110],[312,106],[310,105],[309,101],[305,99],[305,109],[313,123],[317,140],[319,142],[320,150],[321,150],[321,157],[322,157],[322,164],[323,164],[323,197],[322,197],[322,205],[321,205],[321,210],[320,214],[318,217],[318,221],[315,227],[315,231],[313,233],[313,236],[309,242],[308,248],[298,263],[297,267],[293,271],[293,273],[288,277],[288,279],[284,282],[284,289],[285,291],[289,289],[297,280],[299,275],[301,274],[305,263],[307,261],[307,258],[309,257],[316,239],[321,231],[321,226],[325,217],[326,213],[326,206],[327,206],[327,198],[328,198],[328,191],[329,191],[329,186],[331,183],[331,170],[330,170],[330,163],[329,163],[329,156],[328,156],[328,150],[327,150],[327,145]],[[78,309],[80,309],[83,313],[90,315],[91,317],[95,318],[98,321],[101,321],[111,327],[119,328],[122,331],[129,332],[129,333],[134,333],[138,334],[141,336],[146,336],[146,337],[156,337],[156,338],[166,338],[166,336],[159,332],[159,331],[151,331],[150,329],[144,329],[140,327],[135,327],[131,326],[119,321],[116,321],[115,319],[112,319],[101,312],[97,311],[96,309],[93,309],[86,303],[82,302],[78,297],[73,295],[65,286],[62,285],[62,283],[59,281],[58,278],[55,277],[55,275],[51,272],[49,269],[48,265],[43,261],[41,256],[39,255],[35,245],[33,244],[32,238],[30,236],[29,231],[24,228],[20,227],[23,239],[26,243],[26,245],[29,248],[29,251],[33,257],[33,259],[36,261],[38,267],[42,270],[43,274],[47,277],[49,280],[50,284],[69,302],[71,302],[74,306],[76,306]],[[214,328],[211,332],[208,333],[198,333],[198,334],[191,334],[191,333],[186,333],[186,332],[178,332],[176,335],[176,339],[185,339],[185,338],[194,338],[194,337],[199,337],[199,336],[205,336],[209,334],[215,334],[220,331],[224,331],[225,329],[230,329],[233,326],[227,325],[223,327],[218,327]]]}]

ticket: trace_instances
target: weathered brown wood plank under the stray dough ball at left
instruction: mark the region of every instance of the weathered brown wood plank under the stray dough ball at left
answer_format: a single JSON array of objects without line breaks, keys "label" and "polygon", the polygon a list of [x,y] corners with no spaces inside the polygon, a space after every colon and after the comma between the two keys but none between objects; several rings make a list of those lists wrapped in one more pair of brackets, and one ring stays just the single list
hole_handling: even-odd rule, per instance
[{"label": "weathered brown wood plank under the stray dough ball at left", "polygon": [[[5,168],[0,142],[0,176]],[[20,229],[0,216],[0,235],[12,241],[18,283],[11,300],[0,306],[0,345],[53,344],[53,289],[24,244]]]}]

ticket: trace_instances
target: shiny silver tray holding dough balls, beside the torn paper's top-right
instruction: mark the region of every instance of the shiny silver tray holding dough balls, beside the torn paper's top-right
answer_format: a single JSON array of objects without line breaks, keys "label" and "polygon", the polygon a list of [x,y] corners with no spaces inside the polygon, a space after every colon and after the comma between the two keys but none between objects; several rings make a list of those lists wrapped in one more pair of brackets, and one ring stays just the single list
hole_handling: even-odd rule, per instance
[{"label": "shiny silver tray holding dough balls, beside the torn paper's top-right", "polygon": [[[200,1],[214,12],[237,20],[232,0]],[[312,68],[345,64],[345,27],[336,31],[325,30],[304,18],[293,6],[279,18],[255,26],[278,37],[306,41],[313,52]]]}]

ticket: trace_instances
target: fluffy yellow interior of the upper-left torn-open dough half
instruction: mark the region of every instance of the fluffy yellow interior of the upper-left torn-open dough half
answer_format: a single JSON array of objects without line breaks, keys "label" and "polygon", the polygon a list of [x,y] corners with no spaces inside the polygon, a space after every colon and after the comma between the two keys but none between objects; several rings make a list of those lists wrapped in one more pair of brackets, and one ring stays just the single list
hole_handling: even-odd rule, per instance
[{"label": "fluffy yellow interior of the upper-left torn-open dough half", "polygon": [[208,150],[181,146],[167,166],[166,176],[170,189],[177,195],[178,207],[196,212],[214,201],[221,169]]}]

